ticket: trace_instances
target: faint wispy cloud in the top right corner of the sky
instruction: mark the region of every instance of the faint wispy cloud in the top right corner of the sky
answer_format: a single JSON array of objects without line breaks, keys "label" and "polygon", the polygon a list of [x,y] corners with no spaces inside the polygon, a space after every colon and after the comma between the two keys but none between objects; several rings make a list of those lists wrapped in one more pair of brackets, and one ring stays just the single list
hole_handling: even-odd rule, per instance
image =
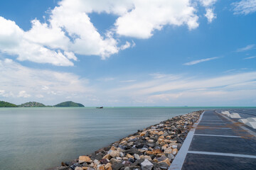
[{"label": "faint wispy cloud in the top right corner of the sky", "polygon": [[233,2],[234,14],[244,14],[254,13],[256,11],[256,0],[242,0]]}]

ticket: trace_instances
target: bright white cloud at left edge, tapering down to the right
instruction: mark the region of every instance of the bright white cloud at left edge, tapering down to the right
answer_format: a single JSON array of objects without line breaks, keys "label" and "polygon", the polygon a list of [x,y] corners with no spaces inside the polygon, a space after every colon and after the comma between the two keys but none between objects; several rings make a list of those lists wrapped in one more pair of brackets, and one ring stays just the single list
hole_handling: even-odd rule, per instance
[{"label": "bright white cloud at left edge, tapering down to the right", "polygon": [[70,66],[68,58],[60,51],[49,50],[43,45],[26,39],[26,33],[14,21],[0,16],[0,52],[18,55],[18,60]]}]

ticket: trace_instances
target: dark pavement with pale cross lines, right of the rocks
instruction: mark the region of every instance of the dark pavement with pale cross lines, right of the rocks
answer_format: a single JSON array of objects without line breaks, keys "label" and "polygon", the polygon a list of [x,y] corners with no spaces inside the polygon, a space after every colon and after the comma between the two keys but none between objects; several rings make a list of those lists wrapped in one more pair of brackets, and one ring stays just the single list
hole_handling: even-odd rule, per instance
[{"label": "dark pavement with pale cross lines, right of the rocks", "polygon": [[[256,110],[230,110],[242,118]],[[205,111],[188,133],[169,170],[256,169],[256,130],[221,111]]]}]

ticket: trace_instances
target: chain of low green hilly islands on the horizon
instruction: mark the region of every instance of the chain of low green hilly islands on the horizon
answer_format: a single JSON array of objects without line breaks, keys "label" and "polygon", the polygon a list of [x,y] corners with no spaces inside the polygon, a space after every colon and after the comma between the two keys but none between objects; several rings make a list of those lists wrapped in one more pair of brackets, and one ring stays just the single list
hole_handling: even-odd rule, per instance
[{"label": "chain of low green hilly islands on the horizon", "polygon": [[0,108],[11,108],[11,107],[34,108],[34,107],[85,107],[85,106],[83,106],[81,103],[75,103],[73,101],[65,101],[62,103],[58,103],[55,106],[46,106],[43,103],[38,103],[36,101],[29,101],[27,103],[22,103],[21,105],[16,105],[6,101],[0,101]]}]

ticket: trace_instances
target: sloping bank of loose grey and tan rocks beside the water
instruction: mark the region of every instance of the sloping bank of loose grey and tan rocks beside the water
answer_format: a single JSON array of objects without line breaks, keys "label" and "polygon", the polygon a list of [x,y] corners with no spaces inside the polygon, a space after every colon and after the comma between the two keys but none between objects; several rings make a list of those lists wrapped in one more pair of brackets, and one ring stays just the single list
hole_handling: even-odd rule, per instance
[{"label": "sloping bank of loose grey and tan rocks beside the water", "polygon": [[203,111],[179,115],[48,170],[168,169],[189,130]]}]

